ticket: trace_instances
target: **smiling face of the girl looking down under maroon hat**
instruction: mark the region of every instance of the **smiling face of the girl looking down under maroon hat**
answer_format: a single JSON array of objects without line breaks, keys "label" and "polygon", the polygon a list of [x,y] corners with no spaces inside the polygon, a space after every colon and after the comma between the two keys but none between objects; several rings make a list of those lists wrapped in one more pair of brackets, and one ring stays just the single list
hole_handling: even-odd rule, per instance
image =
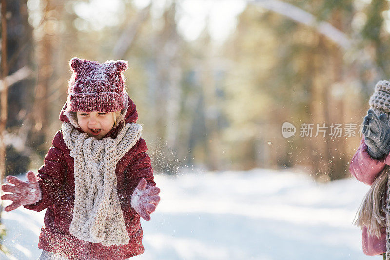
[{"label": "smiling face of the girl looking down under maroon hat", "polygon": [[81,129],[84,130],[88,136],[100,140],[113,128],[115,113],[77,111],[77,120]]}]

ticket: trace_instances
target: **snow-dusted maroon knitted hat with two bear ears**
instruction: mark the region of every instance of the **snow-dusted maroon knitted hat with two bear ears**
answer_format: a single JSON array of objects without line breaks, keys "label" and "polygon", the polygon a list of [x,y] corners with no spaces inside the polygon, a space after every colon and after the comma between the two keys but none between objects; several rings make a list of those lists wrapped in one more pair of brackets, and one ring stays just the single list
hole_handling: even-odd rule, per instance
[{"label": "snow-dusted maroon knitted hat with two bear ears", "polygon": [[114,112],[125,107],[126,60],[107,60],[100,64],[74,57],[69,65],[73,74],[68,86],[68,111]]}]

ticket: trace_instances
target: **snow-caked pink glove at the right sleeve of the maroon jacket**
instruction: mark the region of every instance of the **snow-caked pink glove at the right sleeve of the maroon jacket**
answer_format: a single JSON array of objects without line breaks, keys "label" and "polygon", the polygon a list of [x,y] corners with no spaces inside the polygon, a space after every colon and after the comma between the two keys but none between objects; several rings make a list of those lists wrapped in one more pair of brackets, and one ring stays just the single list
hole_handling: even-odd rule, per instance
[{"label": "snow-caked pink glove at the right sleeve of the maroon jacket", "polygon": [[150,220],[149,214],[155,211],[160,202],[161,198],[158,193],[160,193],[159,188],[146,186],[145,178],[142,178],[142,180],[139,181],[134,190],[130,204],[144,220]]}]

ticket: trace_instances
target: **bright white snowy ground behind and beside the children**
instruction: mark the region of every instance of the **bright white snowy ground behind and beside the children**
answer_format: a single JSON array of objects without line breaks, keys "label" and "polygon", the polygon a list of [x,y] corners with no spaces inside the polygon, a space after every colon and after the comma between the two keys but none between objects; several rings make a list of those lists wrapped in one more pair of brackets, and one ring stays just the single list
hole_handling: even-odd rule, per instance
[{"label": "bright white snowy ground behind and beside the children", "polygon": [[[352,225],[368,186],[327,184],[291,171],[156,175],[161,202],[141,220],[145,253],[134,260],[360,260],[361,231]],[[4,212],[1,259],[35,260],[44,212]]]}]

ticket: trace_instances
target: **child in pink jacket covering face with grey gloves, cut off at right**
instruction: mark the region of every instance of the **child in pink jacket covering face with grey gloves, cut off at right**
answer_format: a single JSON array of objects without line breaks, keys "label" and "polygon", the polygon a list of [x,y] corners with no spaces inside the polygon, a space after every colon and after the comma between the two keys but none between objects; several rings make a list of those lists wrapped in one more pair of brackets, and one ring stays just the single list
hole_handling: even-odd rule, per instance
[{"label": "child in pink jacket covering face with grey gloves, cut off at right", "polygon": [[363,230],[363,252],[390,260],[390,82],[379,81],[363,119],[360,146],[351,174],[370,185],[355,222]]}]

